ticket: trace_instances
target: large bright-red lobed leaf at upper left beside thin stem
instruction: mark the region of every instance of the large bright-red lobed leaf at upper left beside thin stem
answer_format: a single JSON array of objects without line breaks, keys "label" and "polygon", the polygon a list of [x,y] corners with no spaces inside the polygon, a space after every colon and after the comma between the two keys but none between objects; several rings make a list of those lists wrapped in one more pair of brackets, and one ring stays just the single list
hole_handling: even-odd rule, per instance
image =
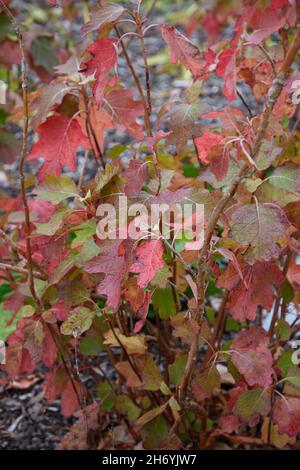
[{"label": "large bright-red lobed leaf at upper left beside thin stem", "polygon": [[77,148],[89,148],[79,123],[75,119],[55,114],[41,124],[37,132],[39,141],[32,147],[28,160],[44,158],[39,177],[43,179],[46,174],[60,176],[64,165],[75,171]]}]

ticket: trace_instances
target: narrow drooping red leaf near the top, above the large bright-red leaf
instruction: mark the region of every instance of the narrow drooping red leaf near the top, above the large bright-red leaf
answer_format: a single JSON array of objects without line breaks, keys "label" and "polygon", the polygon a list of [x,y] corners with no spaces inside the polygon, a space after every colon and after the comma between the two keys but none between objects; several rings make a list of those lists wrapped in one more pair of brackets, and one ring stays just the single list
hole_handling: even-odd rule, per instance
[{"label": "narrow drooping red leaf near the top, above the large bright-red leaf", "polygon": [[103,99],[104,88],[110,81],[110,71],[116,67],[118,55],[115,47],[116,40],[110,38],[97,39],[87,48],[91,58],[85,62],[85,75],[95,75],[94,88],[97,104]]}]

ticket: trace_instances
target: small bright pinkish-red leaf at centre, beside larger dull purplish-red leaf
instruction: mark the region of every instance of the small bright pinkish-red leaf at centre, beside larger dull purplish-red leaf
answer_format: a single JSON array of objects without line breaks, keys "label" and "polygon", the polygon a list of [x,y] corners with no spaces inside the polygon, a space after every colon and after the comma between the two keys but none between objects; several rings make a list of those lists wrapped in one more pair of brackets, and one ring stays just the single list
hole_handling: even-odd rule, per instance
[{"label": "small bright pinkish-red leaf at centre, beside larger dull purplish-red leaf", "polygon": [[142,288],[154,278],[156,272],[163,267],[163,246],[160,240],[148,240],[135,250],[137,260],[130,267],[133,273],[139,273],[138,285]]}]

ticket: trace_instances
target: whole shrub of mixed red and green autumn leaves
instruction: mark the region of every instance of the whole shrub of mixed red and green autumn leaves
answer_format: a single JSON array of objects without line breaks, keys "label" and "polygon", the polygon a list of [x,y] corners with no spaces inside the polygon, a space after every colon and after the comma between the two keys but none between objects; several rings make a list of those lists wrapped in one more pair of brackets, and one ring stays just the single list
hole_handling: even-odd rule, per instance
[{"label": "whole shrub of mixed red and green autumn leaves", "polygon": [[[63,414],[78,418],[65,448],[209,448],[221,436],[293,446],[297,1],[216,1],[210,10],[192,2],[173,16],[185,35],[147,22],[140,1],[101,1],[89,12],[85,2],[61,3],[49,10],[56,20],[71,24],[81,8],[89,15],[76,46],[71,36],[66,48],[45,33],[39,9],[22,38],[14,2],[0,2],[0,72],[11,77],[0,110],[4,161],[20,153],[11,129],[24,131],[22,191],[0,199],[4,308],[10,325],[17,319],[2,380],[44,364],[46,399],[59,396]],[[189,35],[203,29],[200,50]],[[149,60],[150,35],[167,47],[170,83],[178,74],[188,83],[163,105],[151,84],[152,64],[157,72],[162,64]],[[131,60],[132,43],[143,67]],[[208,109],[204,90],[216,77],[227,104]],[[239,89],[250,90],[255,109]],[[122,142],[112,146],[111,135]],[[120,194],[147,207],[204,204],[203,247],[187,250],[172,235],[99,240],[97,208],[117,205]],[[86,371],[97,378],[97,397]]]}]

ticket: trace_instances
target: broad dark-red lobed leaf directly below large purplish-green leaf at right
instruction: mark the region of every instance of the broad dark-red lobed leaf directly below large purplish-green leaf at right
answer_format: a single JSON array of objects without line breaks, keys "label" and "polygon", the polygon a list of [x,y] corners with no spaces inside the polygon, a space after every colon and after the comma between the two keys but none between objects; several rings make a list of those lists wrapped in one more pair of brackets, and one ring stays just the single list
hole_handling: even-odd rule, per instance
[{"label": "broad dark-red lobed leaf directly below large purplish-green leaf at right", "polygon": [[258,306],[270,310],[274,301],[273,286],[284,282],[284,276],[275,263],[256,262],[241,265],[245,287],[233,264],[219,277],[217,285],[229,290],[229,310],[239,321],[255,320]]}]

